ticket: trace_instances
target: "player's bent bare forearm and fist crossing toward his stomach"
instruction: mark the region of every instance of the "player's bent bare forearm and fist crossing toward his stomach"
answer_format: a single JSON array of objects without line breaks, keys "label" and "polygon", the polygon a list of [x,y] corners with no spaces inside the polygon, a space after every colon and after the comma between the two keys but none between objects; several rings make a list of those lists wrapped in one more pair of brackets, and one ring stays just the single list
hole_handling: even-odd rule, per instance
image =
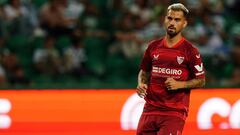
[{"label": "player's bent bare forearm and fist crossing toward his stomach", "polygon": [[173,78],[167,78],[165,84],[168,90],[200,88],[205,85],[205,78],[192,79],[189,81],[176,81]]}]

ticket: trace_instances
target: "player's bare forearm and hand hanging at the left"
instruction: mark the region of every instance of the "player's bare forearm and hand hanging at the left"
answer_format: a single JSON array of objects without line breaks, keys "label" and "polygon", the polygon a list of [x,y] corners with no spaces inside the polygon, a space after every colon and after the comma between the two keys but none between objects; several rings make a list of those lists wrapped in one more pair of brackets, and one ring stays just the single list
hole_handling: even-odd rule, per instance
[{"label": "player's bare forearm and hand hanging at the left", "polygon": [[149,76],[150,73],[143,70],[140,70],[138,73],[138,86],[136,92],[142,98],[147,95]]}]

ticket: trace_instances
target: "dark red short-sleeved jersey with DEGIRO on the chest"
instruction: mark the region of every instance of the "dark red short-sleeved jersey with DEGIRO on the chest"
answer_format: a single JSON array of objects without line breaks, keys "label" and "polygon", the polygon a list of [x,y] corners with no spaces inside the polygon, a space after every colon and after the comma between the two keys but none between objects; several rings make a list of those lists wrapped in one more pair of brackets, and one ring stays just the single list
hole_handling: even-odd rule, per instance
[{"label": "dark red short-sleeved jersey with DEGIRO on the chest", "polygon": [[201,56],[189,41],[182,38],[173,47],[166,45],[166,39],[149,43],[140,68],[150,73],[146,114],[174,115],[185,119],[188,114],[190,89],[169,91],[165,81],[168,77],[178,81],[204,78]]}]

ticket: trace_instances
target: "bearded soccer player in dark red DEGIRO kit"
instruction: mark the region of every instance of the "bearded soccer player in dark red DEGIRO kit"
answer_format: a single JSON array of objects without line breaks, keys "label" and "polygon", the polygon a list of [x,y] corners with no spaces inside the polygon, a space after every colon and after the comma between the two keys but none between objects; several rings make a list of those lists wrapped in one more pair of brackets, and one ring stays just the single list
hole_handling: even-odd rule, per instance
[{"label": "bearded soccer player in dark red DEGIRO kit", "polygon": [[170,5],[164,21],[166,35],[150,42],[144,53],[136,92],[146,103],[137,135],[181,135],[190,89],[205,85],[201,56],[182,35],[188,13],[181,3]]}]

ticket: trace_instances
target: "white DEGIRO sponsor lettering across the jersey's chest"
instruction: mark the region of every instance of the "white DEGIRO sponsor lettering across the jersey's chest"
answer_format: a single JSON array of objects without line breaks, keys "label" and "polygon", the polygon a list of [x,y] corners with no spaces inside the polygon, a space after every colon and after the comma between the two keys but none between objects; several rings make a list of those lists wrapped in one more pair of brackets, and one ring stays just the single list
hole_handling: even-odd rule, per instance
[{"label": "white DEGIRO sponsor lettering across the jersey's chest", "polygon": [[153,73],[162,73],[162,74],[168,74],[168,75],[181,75],[182,70],[177,69],[171,69],[171,68],[161,68],[161,67],[152,67]]}]

